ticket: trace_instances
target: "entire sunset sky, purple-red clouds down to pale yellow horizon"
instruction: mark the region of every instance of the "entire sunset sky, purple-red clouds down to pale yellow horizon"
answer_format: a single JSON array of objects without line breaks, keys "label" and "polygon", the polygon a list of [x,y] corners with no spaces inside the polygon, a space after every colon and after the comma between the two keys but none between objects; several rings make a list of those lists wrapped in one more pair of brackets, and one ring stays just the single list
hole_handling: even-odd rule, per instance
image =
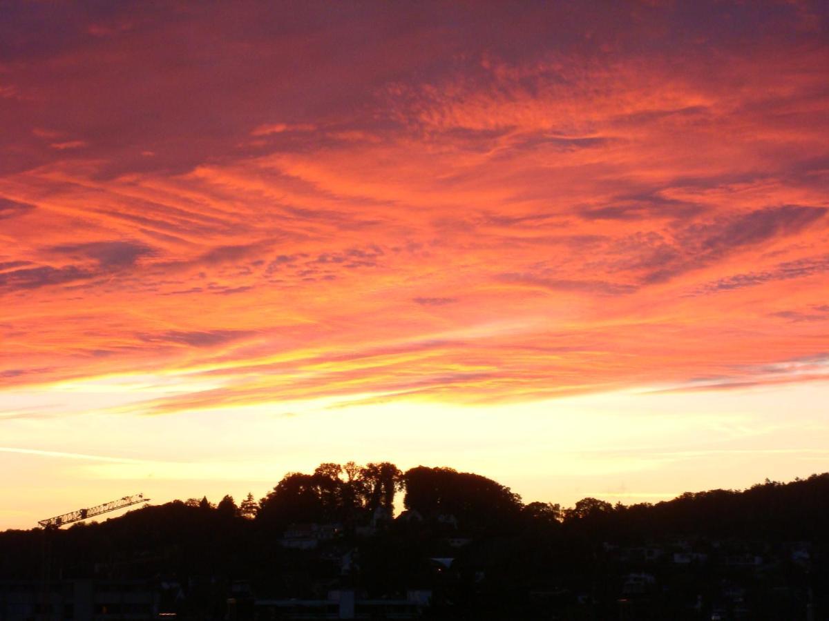
[{"label": "entire sunset sky, purple-red clouds down to pale yellow horizon", "polygon": [[0,527],[829,470],[827,7],[3,4]]}]

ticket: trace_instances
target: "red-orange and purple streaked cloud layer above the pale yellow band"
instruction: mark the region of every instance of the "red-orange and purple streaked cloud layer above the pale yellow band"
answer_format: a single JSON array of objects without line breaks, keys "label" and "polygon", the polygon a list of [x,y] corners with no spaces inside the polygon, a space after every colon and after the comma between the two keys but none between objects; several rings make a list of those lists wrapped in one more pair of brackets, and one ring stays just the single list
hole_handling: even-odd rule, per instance
[{"label": "red-orange and purple streaked cloud layer above the pale yellow band", "polygon": [[10,12],[7,383],[519,402],[826,349],[816,3],[294,9]]}]

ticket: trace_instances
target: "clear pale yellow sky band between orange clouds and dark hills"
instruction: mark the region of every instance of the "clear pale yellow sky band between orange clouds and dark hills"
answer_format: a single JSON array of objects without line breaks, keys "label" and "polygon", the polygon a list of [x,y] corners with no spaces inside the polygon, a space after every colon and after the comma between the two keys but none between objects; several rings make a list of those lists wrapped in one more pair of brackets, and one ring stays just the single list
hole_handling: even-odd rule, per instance
[{"label": "clear pale yellow sky band between orange clouds and dark hills", "polygon": [[[657,502],[684,491],[793,479],[829,465],[829,425],[802,383],[711,392],[609,392],[520,404],[397,400],[302,412],[275,404],[143,416],[7,419],[0,467],[15,476],[0,527],[141,491],[161,503],[260,498],[323,461],[448,465],[509,485],[526,502],[594,496]],[[797,405],[797,418],[779,416]],[[300,404],[294,404],[300,405]],[[59,440],[44,442],[43,429]],[[31,495],[26,489],[49,490]],[[402,498],[397,499],[400,506]],[[7,510],[6,510],[7,509]]]}]

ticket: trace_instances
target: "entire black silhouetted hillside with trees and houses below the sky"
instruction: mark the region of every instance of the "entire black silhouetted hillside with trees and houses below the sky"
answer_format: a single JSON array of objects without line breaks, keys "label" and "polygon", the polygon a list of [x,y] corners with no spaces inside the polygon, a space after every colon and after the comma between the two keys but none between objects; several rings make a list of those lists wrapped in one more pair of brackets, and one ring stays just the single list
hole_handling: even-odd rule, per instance
[{"label": "entire black silhouetted hillside with trees and houses below the sky", "polygon": [[259,502],[0,532],[0,621],[824,621],[827,544],[829,474],[562,509],[453,469],[325,464]]}]

